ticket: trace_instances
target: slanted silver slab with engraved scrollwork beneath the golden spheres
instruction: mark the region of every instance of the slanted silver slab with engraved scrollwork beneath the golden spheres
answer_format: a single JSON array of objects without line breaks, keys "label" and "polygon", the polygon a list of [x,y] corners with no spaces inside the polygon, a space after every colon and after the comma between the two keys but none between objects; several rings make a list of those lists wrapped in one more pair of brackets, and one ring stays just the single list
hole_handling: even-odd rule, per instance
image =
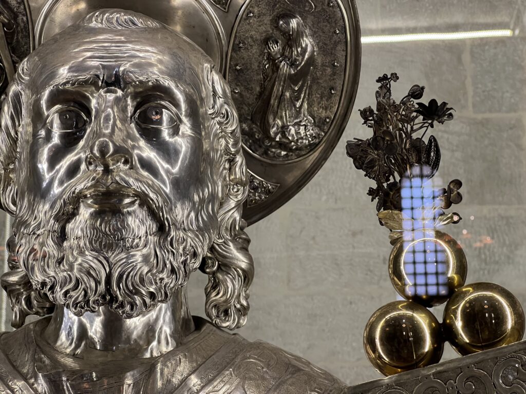
[{"label": "slanted silver slab with engraved scrollwork beneath the golden spheres", "polygon": [[347,389],[348,394],[525,394],[526,341]]}]

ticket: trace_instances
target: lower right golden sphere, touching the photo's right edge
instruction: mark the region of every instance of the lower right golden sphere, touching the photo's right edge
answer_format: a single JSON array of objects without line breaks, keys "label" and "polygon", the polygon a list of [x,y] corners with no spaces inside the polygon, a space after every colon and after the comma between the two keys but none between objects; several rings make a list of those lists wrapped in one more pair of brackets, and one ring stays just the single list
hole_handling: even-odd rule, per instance
[{"label": "lower right golden sphere, touching the photo's right edge", "polygon": [[473,283],[458,289],[446,304],[446,339],[463,356],[509,345],[524,335],[524,312],[507,289]]}]

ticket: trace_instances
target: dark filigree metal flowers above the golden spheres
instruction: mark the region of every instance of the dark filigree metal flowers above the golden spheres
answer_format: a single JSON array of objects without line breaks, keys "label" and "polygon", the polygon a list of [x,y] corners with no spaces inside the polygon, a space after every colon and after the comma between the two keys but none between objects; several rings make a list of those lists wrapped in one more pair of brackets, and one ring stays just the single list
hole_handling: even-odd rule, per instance
[{"label": "dark filigree metal flowers above the golden spheres", "polygon": [[[443,124],[453,119],[453,108],[447,102],[440,105],[431,99],[426,105],[414,102],[423,97],[426,87],[413,85],[399,102],[392,98],[391,84],[399,80],[396,72],[383,74],[377,78],[380,84],[376,91],[376,110],[371,106],[360,109],[363,125],[371,128],[372,137],[362,140],[355,138],[347,141],[347,155],[365,176],[376,182],[376,188],[369,188],[367,194],[371,201],[377,201],[377,211],[400,211],[400,180],[412,177],[418,168],[419,176],[432,178],[440,166],[440,147],[434,136],[426,140],[427,131],[434,123]],[[448,188],[434,192],[442,201],[436,206],[436,216],[444,215],[442,209],[462,201],[458,191],[462,186],[459,180],[453,180]],[[454,216],[454,217],[453,217]],[[455,214],[446,220],[456,223],[460,216]],[[445,216],[444,216],[445,217]],[[384,224],[381,220],[380,223]]]}]

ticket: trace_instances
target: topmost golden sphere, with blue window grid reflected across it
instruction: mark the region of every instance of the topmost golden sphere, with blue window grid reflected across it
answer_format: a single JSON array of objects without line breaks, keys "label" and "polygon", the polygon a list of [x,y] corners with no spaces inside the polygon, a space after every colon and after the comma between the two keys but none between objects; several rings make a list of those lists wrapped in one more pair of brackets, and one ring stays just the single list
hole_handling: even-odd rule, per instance
[{"label": "topmost golden sphere, with blue window grid reflected across it", "polygon": [[398,294],[426,307],[445,303],[466,283],[467,274],[462,247],[437,230],[404,232],[389,256],[389,276]]}]

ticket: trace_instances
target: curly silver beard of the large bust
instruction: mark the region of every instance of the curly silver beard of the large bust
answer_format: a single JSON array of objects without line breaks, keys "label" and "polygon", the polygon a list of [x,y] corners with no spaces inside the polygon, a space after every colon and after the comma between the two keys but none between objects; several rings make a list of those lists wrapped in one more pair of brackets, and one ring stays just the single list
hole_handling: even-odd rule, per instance
[{"label": "curly silver beard of the large bust", "polygon": [[[46,222],[38,216],[28,222]],[[15,227],[38,228],[38,222],[21,223],[24,219]],[[178,223],[166,219],[160,225],[139,202],[121,211],[88,209],[80,202],[65,224],[46,225],[65,231],[17,232],[16,256],[34,288],[75,315],[107,305],[123,318],[134,318],[168,302],[186,284],[213,238],[211,232],[180,225],[159,230]]]}]

